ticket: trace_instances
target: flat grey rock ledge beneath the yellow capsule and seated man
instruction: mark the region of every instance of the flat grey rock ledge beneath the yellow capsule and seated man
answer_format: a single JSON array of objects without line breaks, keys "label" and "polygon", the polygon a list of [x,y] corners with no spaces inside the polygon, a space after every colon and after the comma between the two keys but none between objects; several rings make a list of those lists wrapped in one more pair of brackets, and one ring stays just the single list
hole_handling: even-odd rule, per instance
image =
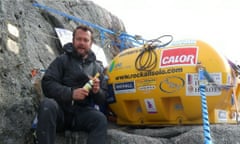
[{"label": "flat grey rock ledge beneath the yellow capsule and seated man", "polygon": [[[112,125],[111,123],[109,125]],[[211,140],[213,144],[240,144],[239,126],[218,124],[211,125]],[[72,133],[74,144],[86,144],[87,134]],[[65,137],[67,137],[65,135]],[[69,141],[68,141],[69,142]],[[130,128],[123,126],[109,127],[108,144],[202,144],[204,143],[203,128],[198,126],[167,126],[154,128]]]}]

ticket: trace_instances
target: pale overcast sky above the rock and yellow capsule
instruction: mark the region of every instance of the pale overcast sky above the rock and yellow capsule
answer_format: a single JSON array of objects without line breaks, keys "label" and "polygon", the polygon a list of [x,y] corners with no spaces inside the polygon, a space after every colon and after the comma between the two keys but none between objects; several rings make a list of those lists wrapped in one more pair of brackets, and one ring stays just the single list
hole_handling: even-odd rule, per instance
[{"label": "pale overcast sky above the rock and yellow capsule", "polygon": [[129,34],[199,39],[240,62],[240,0],[93,0],[118,16]]}]

